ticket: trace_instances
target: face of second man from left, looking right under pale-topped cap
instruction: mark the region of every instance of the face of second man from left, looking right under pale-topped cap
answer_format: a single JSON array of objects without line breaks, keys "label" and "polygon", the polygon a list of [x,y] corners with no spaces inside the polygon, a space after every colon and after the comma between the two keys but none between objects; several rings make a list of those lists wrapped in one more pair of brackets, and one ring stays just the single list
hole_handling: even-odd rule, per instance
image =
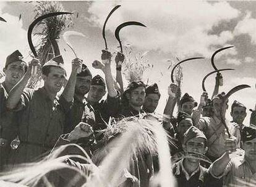
[{"label": "face of second man from left, looking right under pale-topped cap", "polygon": [[48,76],[43,75],[45,87],[53,93],[58,93],[65,81],[66,71],[59,67],[50,67]]}]

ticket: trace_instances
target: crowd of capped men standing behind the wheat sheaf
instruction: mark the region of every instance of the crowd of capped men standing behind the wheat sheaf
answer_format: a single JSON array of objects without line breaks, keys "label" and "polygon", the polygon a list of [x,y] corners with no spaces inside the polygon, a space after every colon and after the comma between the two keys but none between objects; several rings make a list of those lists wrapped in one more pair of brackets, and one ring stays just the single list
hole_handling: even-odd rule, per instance
[{"label": "crowd of capped men standing behind the wheat sheaf", "polygon": [[[67,74],[63,59],[61,55],[54,57],[41,67],[43,87],[34,90],[26,86],[35,76],[32,70],[40,66],[38,60],[24,62],[18,50],[9,55],[3,68],[4,82],[0,84],[1,171],[36,161],[49,153],[60,137],[67,143],[79,143],[92,156],[96,148],[104,144],[102,130],[108,127],[109,118],[119,121],[124,117],[155,114],[161,97],[158,85],[134,81],[124,90],[121,73],[124,59],[124,55],[117,53],[114,79],[110,52],[103,50],[102,62],[95,60],[92,64],[93,68],[103,71],[105,78],[92,76],[83,60],[75,58],[65,84]],[[79,71],[81,67],[82,71]],[[216,76],[216,87],[219,83],[220,73]],[[59,94],[62,87],[64,90]],[[207,164],[188,156],[173,163],[170,167],[177,186],[256,185],[255,110],[250,122],[244,122],[247,108],[234,101],[230,113],[233,121],[223,122],[221,116],[228,115],[224,92],[213,94],[212,99],[203,93],[197,105],[187,93],[178,101],[180,89],[176,84],[166,89],[169,97],[163,119],[158,121],[170,135],[171,155],[195,152],[213,162]],[[108,94],[106,100],[102,100],[105,94]],[[173,113],[177,102],[180,106],[176,116]],[[16,137],[20,143],[14,148],[11,143]],[[233,156],[237,149],[244,153]],[[148,155],[143,158],[147,163],[144,169],[147,175],[140,174],[140,186],[148,186],[151,176],[157,172],[156,158]]]}]

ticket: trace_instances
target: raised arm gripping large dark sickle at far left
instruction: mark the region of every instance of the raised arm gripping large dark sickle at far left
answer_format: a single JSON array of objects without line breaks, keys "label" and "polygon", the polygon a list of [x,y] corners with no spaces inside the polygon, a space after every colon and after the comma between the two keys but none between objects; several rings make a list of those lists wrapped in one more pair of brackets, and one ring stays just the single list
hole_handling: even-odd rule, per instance
[{"label": "raised arm gripping large dark sickle at far left", "polygon": [[32,66],[39,66],[39,61],[36,58],[33,58],[28,65],[28,70],[24,74],[23,78],[11,89],[9,96],[6,101],[6,107],[8,109],[14,109],[20,101],[20,96],[22,95],[23,90],[27,86],[28,80],[32,74]]}]

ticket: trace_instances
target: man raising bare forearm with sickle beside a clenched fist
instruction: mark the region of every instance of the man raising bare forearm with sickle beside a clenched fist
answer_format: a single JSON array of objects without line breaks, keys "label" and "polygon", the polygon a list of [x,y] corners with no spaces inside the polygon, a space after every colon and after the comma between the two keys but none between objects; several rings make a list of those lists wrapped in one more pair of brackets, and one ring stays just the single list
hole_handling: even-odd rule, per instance
[{"label": "man raising bare forearm with sickle beside a clenched fist", "polygon": [[[116,116],[120,106],[120,94],[114,88],[114,79],[111,73],[111,53],[107,50],[102,50],[102,62],[95,60],[93,67],[100,69],[105,74],[106,82],[100,75],[96,75],[92,79],[92,84],[88,92],[88,103],[92,105],[95,111],[95,125],[92,125],[93,130],[102,130],[107,127],[109,117]],[[101,100],[108,89],[106,100]]]}]

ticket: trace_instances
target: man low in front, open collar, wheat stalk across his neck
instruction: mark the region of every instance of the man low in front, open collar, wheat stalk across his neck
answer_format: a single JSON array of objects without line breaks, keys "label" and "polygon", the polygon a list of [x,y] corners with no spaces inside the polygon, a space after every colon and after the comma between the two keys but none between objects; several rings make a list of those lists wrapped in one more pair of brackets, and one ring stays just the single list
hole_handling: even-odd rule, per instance
[{"label": "man low in front, open collar, wheat stalk across his neck", "polygon": [[[207,138],[197,127],[191,126],[184,133],[182,140],[184,151],[205,154],[207,152]],[[205,167],[200,165],[200,160],[195,158],[184,158],[173,164],[174,177],[177,186],[218,186],[219,181],[209,174]]]}]

